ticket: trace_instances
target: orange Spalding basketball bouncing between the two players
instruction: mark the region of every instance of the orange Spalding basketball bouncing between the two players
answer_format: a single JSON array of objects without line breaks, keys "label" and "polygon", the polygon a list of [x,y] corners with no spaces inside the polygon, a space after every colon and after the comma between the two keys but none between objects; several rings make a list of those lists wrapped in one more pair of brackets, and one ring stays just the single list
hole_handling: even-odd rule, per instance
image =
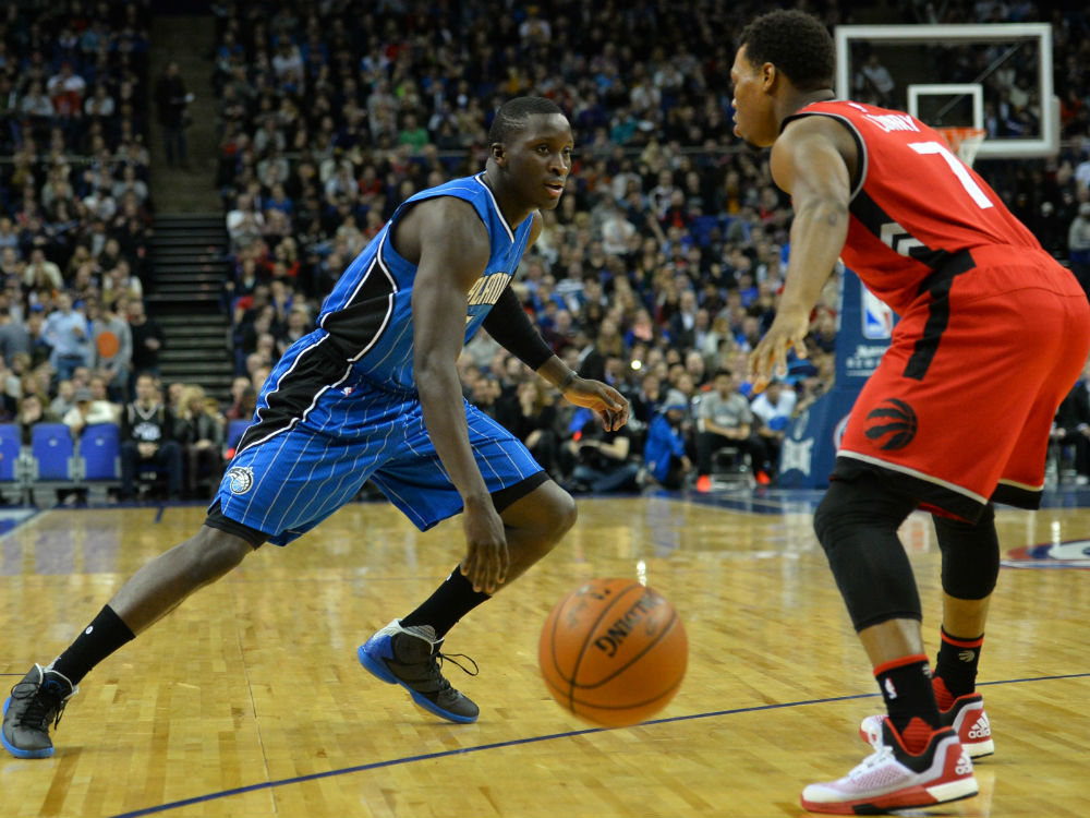
[{"label": "orange Spalding basketball bouncing between the two players", "polygon": [[537,661],[561,707],[607,727],[650,719],[685,676],[689,640],[674,606],[632,579],[595,579],[545,621]]}]

